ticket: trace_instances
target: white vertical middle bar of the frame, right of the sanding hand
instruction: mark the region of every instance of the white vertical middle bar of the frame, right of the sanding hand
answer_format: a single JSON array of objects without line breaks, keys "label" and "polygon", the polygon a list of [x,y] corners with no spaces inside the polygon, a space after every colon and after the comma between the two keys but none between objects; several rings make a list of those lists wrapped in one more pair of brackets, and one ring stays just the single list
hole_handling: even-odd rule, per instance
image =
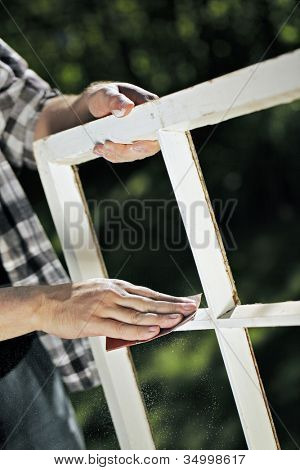
[{"label": "white vertical middle bar of the frame, right of the sanding hand", "polygon": [[[239,300],[203,174],[189,132],[161,130],[158,135],[213,320],[234,308]],[[247,330],[215,325],[215,332],[248,447],[278,449]]]}]

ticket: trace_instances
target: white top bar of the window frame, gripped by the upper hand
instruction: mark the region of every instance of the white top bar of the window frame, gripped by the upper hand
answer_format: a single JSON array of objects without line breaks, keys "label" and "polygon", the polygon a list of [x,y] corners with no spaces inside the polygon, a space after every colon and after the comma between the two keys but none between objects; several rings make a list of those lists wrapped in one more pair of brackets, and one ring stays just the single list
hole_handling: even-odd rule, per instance
[{"label": "white top bar of the window frame, gripped by the upper hand", "polygon": [[46,141],[52,163],[83,163],[98,158],[92,148],[106,139],[155,140],[160,129],[192,130],[289,103],[300,98],[299,71],[297,49],[137,106],[122,119],[109,116],[54,134],[37,141],[35,147]]}]

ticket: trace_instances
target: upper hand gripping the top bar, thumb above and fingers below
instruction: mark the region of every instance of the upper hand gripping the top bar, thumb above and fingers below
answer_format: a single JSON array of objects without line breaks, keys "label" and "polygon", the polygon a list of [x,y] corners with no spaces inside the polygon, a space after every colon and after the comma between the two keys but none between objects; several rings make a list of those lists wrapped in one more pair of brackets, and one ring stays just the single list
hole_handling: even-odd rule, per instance
[{"label": "upper hand gripping the top bar, thumb above and fingers below", "polygon": [[[134,106],[157,98],[157,95],[129,83],[95,83],[80,96],[62,95],[50,99],[37,121],[34,138],[38,140],[109,114],[121,118]],[[94,147],[97,155],[113,163],[141,160],[158,151],[158,142],[150,140],[132,144],[106,141]]]}]

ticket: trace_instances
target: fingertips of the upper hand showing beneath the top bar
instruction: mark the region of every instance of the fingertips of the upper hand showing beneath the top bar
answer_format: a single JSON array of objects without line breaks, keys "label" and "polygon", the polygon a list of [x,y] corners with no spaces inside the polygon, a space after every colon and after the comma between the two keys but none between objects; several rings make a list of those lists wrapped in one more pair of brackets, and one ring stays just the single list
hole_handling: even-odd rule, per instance
[{"label": "fingertips of the upper hand showing beneath the top bar", "polygon": [[159,143],[156,140],[140,140],[132,144],[116,144],[106,141],[104,144],[97,144],[94,153],[112,163],[133,162],[142,160],[159,152]]}]

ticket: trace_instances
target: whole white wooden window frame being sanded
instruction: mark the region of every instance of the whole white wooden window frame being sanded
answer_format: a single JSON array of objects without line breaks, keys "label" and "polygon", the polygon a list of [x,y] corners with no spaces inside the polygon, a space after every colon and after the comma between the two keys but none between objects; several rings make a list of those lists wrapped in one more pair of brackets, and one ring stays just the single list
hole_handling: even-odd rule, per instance
[{"label": "whole white wooden window frame being sanded", "polygon": [[[79,281],[106,277],[107,272],[74,165],[97,158],[92,153],[95,142],[160,141],[177,200],[185,207],[201,201],[204,207],[193,218],[188,211],[181,215],[208,308],[199,309],[195,320],[177,331],[215,330],[249,449],[279,449],[279,442],[247,328],[299,326],[300,302],[240,305],[189,131],[299,99],[299,78],[300,49],[148,102],[125,118],[109,116],[34,144],[69,273],[73,281]],[[84,208],[84,240],[79,248],[64,217],[65,204],[70,201]],[[190,240],[195,227],[199,243]],[[209,243],[201,248],[203,233],[209,234]],[[120,447],[153,449],[129,350],[108,353],[105,338],[91,338],[90,342]]]}]

